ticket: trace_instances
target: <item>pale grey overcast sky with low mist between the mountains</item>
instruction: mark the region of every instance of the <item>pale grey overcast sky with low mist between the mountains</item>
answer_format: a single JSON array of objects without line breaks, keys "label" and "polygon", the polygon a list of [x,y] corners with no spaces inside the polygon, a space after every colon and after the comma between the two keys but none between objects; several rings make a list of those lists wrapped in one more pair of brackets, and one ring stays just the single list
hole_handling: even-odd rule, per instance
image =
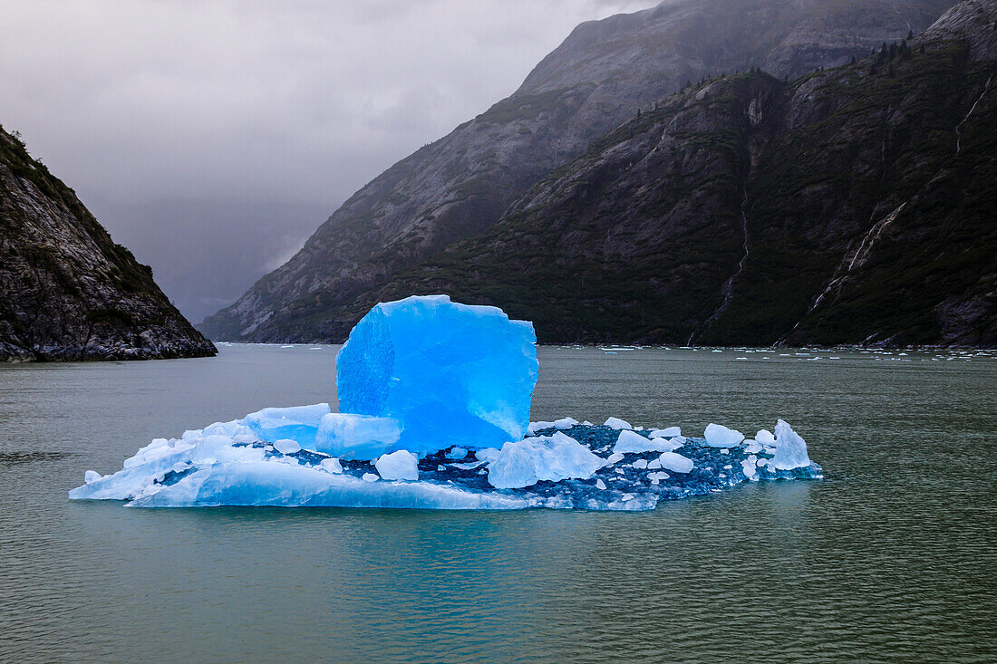
[{"label": "pale grey overcast sky with low mist between the mountains", "polygon": [[[0,124],[196,321],[513,92],[575,25],[654,4],[0,0]],[[169,210],[182,241],[166,241]]]}]

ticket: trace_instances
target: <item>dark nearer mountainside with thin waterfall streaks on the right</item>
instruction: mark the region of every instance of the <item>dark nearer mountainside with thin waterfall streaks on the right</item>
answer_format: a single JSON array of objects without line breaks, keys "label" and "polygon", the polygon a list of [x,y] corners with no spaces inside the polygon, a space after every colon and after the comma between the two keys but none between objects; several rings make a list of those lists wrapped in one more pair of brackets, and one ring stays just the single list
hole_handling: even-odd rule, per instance
[{"label": "dark nearer mountainside with thin waterfall streaks on the right", "polygon": [[784,83],[671,98],[358,300],[447,292],[541,341],[997,345],[997,0]]}]

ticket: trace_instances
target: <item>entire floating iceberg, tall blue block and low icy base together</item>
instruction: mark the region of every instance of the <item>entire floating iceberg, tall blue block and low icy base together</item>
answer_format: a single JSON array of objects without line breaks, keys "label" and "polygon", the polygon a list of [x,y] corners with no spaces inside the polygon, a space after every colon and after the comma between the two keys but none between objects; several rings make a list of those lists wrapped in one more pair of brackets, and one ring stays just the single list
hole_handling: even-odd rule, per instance
[{"label": "entire floating iceberg, tall blue block and low icy base together", "polygon": [[379,304],[337,358],[340,406],[266,408],[156,439],[72,499],[142,507],[651,509],[744,482],[821,479],[780,420],[745,439],[711,424],[529,422],[532,325],[444,295]]}]

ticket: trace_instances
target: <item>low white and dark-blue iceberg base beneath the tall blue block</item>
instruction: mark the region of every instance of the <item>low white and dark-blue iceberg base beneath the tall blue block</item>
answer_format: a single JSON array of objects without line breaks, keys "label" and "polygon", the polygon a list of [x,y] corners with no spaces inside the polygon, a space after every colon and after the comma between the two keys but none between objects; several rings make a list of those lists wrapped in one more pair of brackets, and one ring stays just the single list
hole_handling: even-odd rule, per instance
[{"label": "low white and dark-blue iceberg base beneath the tall blue block", "polygon": [[370,461],[306,449],[292,452],[294,446],[245,434],[241,422],[219,423],[178,439],[157,439],[115,474],[89,471],[85,484],[69,497],[128,500],[135,507],[637,510],[744,482],[823,477],[821,467],[809,459],[805,466],[778,468],[803,463],[807,454],[804,439],[782,421],[776,431],[778,442],[785,444],[785,463],[773,463],[779,447],[749,454],[747,446],[736,446],[723,454],[706,439],[692,437],[686,438],[681,455],[649,451],[618,463],[625,455],[609,451],[620,430],[576,425],[570,436],[551,430],[549,436],[507,443],[501,450],[480,450],[475,453],[477,463],[454,463],[448,459],[450,450],[423,457],[396,451],[379,457],[373,467]]}]

